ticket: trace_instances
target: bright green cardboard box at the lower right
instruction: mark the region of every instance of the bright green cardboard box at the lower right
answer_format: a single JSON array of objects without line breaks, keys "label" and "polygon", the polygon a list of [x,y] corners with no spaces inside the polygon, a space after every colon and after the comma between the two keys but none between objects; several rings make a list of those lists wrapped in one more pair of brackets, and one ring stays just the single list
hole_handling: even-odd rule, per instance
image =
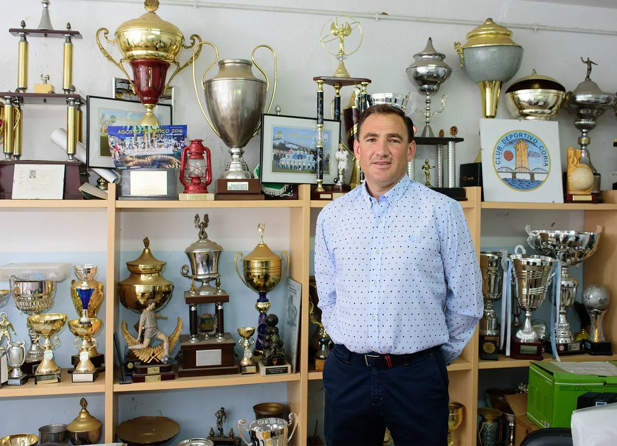
[{"label": "bright green cardboard box at the lower right", "polygon": [[[587,392],[617,393],[617,376],[569,373],[555,361],[529,365],[527,416],[539,427],[570,427],[576,400]],[[617,361],[611,361],[617,366]]]}]

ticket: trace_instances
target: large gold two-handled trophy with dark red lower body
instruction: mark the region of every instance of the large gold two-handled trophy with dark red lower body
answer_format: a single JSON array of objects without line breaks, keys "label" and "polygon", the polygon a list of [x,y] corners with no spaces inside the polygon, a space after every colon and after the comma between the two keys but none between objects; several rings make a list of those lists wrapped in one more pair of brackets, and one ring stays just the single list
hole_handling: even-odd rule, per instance
[{"label": "large gold two-handled trophy with dark red lower body", "polygon": [[[201,47],[193,52],[193,56],[184,65],[180,66],[178,55],[183,48],[193,48],[198,41],[201,42],[201,38],[193,34],[191,44],[184,44],[183,33],[175,25],[165,22],[155,13],[159,9],[159,0],[144,1],[144,8],[147,11],[146,14],[137,19],[128,20],[118,27],[114,40],[107,37],[109,35],[107,28],[99,28],[96,31],[96,43],[103,56],[122,70],[131,83],[133,93],[139,96],[141,103],[146,107],[146,114],[139,124],[159,125],[159,120],[153,112],[159,102],[159,97],[167,91],[173,78],[199,57]],[[122,54],[122,59],[118,62],[102,46],[99,39],[101,31],[107,43],[118,45]],[[133,80],[122,65],[125,61],[133,69]],[[165,83],[167,70],[172,64],[176,65],[176,70]]]}]

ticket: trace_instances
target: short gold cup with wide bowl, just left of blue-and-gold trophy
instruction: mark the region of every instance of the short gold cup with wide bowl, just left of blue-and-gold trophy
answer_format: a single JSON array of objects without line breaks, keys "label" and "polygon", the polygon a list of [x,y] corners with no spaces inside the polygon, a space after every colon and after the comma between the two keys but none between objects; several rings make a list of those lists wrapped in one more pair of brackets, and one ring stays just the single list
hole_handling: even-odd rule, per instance
[{"label": "short gold cup with wide bowl, just left of blue-and-gold trophy", "polygon": [[[60,313],[43,313],[41,315],[28,316],[28,326],[39,336],[43,336],[43,360],[36,368],[35,384],[53,384],[60,382],[60,367],[54,361],[54,347],[60,344],[57,335],[67,322],[67,315]],[[54,341],[51,337],[54,336]]]}]

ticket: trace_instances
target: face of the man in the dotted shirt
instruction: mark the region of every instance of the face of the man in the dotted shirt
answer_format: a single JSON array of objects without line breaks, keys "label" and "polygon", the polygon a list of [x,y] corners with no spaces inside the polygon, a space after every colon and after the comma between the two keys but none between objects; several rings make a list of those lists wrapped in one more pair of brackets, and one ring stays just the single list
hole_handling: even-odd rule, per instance
[{"label": "face of the man in the dotted shirt", "polygon": [[403,118],[394,114],[370,115],[354,141],[354,153],[370,189],[392,188],[405,174],[415,151],[416,143],[408,141]]}]

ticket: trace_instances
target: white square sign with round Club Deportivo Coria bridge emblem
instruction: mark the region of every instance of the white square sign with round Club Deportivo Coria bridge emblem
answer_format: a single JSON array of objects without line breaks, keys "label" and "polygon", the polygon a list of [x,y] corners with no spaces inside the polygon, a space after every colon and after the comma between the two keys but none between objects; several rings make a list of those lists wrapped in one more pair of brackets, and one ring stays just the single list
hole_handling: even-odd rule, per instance
[{"label": "white square sign with round Club Deportivo Coria bridge emblem", "polygon": [[481,119],[480,145],[484,201],[563,203],[557,122]]}]

